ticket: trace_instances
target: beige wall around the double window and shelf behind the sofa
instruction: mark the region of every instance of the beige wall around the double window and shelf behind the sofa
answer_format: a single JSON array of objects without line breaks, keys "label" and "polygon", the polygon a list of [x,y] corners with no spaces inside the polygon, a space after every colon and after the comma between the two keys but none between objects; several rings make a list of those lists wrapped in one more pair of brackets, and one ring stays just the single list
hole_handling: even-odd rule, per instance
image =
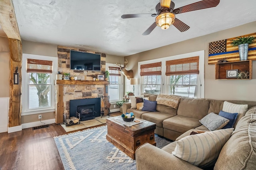
[{"label": "beige wall around the double window and shelf behind the sofa", "polygon": [[[133,66],[135,78],[138,77],[138,62],[162,57],[169,57],[194,51],[205,50],[205,98],[217,100],[249,100],[256,101],[256,61],[253,61],[252,80],[215,80],[215,65],[208,65],[209,42],[228,39],[256,32],[256,21],[238,27],[218,31],[179,43],[174,43],[150,51],[127,56],[129,66]],[[189,31],[189,30],[188,30]],[[182,35],[182,33],[181,33]],[[129,82],[126,80],[126,84]],[[130,85],[131,86],[131,85]],[[126,86],[125,86],[126,87]],[[124,91],[126,90],[125,88]]]}]

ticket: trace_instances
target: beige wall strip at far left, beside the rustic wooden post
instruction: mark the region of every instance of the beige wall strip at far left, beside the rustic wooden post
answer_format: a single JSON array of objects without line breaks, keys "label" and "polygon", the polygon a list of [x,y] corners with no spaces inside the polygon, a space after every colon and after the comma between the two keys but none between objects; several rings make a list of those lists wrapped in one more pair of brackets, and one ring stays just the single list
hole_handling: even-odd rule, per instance
[{"label": "beige wall strip at far left, beside the rustic wooden post", "polygon": [[6,37],[0,37],[0,72],[0,98],[6,98],[10,96],[10,51]]}]

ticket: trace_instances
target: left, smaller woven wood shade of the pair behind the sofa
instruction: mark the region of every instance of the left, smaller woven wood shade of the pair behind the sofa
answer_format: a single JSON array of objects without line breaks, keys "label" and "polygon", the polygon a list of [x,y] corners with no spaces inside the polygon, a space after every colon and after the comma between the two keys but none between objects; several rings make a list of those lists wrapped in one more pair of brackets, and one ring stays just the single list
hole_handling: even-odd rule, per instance
[{"label": "left, smaller woven wood shade of the pair behind the sofa", "polygon": [[162,62],[140,65],[140,76],[153,76],[162,74]]}]

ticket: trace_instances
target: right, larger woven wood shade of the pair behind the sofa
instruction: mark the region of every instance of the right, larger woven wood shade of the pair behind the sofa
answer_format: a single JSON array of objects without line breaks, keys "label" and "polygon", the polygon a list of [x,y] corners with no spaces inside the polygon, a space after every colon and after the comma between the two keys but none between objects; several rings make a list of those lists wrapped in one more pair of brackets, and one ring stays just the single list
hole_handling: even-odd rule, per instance
[{"label": "right, larger woven wood shade of the pair behind the sofa", "polygon": [[166,76],[199,74],[199,56],[166,61]]}]

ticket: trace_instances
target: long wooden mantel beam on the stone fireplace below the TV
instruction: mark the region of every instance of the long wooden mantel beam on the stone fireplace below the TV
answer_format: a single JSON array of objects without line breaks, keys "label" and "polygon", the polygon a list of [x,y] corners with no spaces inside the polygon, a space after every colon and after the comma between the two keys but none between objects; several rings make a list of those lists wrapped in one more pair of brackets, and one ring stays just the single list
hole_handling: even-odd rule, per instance
[{"label": "long wooden mantel beam on the stone fireplace below the TV", "polygon": [[92,80],[56,80],[55,84],[75,84],[75,85],[87,85],[87,84],[96,84],[96,85],[108,85],[108,81],[92,81]]}]

